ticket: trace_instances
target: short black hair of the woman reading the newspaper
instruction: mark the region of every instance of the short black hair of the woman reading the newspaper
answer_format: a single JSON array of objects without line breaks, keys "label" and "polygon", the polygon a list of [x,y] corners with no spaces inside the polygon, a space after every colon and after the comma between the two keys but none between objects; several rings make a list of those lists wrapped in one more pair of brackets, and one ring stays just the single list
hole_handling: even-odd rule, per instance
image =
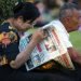
[{"label": "short black hair of the woman reading the newspaper", "polygon": [[23,16],[24,22],[26,22],[27,19],[33,22],[40,15],[37,6],[35,6],[35,4],[31,2],[19,2],[13,8],[13,12],[14,18]]}]

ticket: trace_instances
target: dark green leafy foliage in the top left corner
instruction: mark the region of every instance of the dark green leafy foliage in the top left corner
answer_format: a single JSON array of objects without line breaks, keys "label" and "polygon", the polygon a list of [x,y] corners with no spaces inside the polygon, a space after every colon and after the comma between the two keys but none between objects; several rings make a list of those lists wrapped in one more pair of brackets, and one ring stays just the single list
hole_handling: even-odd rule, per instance
[{"label": "dark green leafy foliage in the top left corner", "polygon": [[25,1],[25,0],[0,0],[0,8],[3,11],[3,18],[8,18],[13,15],[12,9],[16,2]]}]

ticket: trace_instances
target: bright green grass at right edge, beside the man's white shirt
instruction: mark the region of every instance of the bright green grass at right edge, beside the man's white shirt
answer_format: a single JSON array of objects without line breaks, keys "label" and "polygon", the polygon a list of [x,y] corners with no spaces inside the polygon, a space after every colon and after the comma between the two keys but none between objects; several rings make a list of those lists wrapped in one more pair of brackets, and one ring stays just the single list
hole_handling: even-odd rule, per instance
[{"label": "bright green grass at right edge, beside the man's white shirt", "polygon": [[72,42],[73,46],[81,52],[81,31],[70,32],[70,41]]}]

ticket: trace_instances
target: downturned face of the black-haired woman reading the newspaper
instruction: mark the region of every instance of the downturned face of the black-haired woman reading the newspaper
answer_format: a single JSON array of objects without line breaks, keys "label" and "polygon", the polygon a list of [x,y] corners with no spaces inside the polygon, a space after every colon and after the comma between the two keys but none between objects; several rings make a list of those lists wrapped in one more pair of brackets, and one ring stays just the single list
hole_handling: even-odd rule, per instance
[{"label": "downturned face of the black-haired woman reading the newspaper", "polygon": [[14,25],[19,31],[26,31],[27,29],[33,27],[33,23],[30,23],[30,21],[24,22],[22,17],[16,18]]}]

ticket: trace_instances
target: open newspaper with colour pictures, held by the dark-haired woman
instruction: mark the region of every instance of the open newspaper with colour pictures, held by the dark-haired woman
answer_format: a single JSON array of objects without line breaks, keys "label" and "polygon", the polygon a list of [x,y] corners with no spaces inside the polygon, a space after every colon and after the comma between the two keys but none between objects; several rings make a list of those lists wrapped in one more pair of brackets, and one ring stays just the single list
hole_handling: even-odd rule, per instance
[{"label": "open newspaper with colour pictures, held by the dark-haired woman", "polygon": [[[66,68],[75,69],[67,49],[54,26],[45,25],[42,28],[48,37],[41,43],[38,43],[31,52],[29,59],[25,64],[26,69],[28,71],[32,70],[53,59]],[[26,32],[26,35],[21,39],[19,51],[23,51],[26,48],[30,42],[30,39],[31,33]]]}]

